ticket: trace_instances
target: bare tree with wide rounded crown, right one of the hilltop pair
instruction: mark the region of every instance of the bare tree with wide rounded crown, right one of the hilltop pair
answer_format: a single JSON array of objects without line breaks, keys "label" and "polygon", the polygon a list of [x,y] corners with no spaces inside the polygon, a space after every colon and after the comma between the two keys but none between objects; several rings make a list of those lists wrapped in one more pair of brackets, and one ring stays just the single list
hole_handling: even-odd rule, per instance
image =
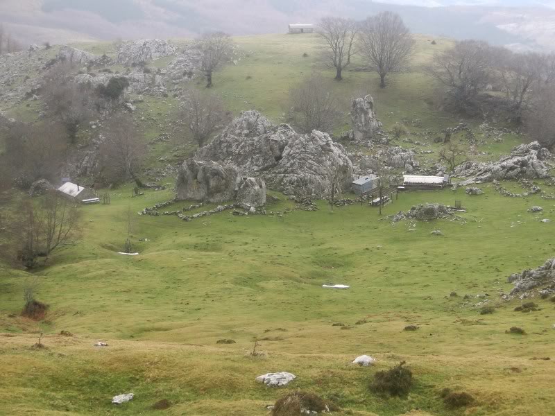
[{"label": "bare tree with wide rounded crown, right one of the hilltop pair", "polygon": [[359,33],[360,51],[379,74],[380,87],[386,87],[388,73],[398,71],[409,60],[414,40],[401,17],[382,12],[368,17]]}]

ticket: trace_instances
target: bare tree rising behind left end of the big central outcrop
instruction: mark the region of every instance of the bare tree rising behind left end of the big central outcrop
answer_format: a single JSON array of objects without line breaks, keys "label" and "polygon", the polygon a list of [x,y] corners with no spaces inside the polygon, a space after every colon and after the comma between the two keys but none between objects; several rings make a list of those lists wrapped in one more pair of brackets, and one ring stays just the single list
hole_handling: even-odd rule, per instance
[{"label": "bare tree rising behind left end of the big central outcrop", "polygon": [[181,118],[198,147],[223,128],[232,118],[219,96],[198,89],[189,89],[182,100]]}]

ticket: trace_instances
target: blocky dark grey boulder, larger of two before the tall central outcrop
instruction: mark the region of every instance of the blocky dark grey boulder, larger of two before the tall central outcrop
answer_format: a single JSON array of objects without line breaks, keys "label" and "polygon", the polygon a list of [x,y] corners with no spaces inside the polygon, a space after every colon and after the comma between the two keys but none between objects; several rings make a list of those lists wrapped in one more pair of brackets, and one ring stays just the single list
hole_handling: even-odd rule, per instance
[{"label": "blocky dark grey boulder, larger of two before the tall central outcrop", "polygon": [[239,180],[237,167],[210,160],[187,159],[179,169],[178,200],[225,202],[234,199]]}]

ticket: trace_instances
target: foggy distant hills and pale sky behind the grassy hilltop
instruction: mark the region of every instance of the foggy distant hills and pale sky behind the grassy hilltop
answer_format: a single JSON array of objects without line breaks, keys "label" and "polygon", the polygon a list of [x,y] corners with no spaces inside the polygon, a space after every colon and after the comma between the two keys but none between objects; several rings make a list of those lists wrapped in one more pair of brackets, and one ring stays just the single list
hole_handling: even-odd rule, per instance
[{"label": "foggy distant hills and pale sky behind the grassy hilltop", "polygon": [[3,0],[0,21],[22,42],[182,37],[222,30],[283,33],[325,15],[402,15],[415,33],[554,49],[554,0]]}]

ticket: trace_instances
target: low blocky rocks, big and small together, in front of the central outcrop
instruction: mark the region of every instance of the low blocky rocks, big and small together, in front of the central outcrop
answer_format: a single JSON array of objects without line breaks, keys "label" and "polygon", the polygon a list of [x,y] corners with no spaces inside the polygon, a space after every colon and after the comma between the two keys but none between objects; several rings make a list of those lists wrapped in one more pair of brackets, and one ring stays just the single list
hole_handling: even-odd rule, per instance
[{"label": "low blocky rocks, big and small together, in front of the central outcrop", "polygon": [[210,160],[185,160],[179,170],[176,193],[178,200],[235,200],[247,209],[266,204],[264,180],[242,177],[237,166]]}]

